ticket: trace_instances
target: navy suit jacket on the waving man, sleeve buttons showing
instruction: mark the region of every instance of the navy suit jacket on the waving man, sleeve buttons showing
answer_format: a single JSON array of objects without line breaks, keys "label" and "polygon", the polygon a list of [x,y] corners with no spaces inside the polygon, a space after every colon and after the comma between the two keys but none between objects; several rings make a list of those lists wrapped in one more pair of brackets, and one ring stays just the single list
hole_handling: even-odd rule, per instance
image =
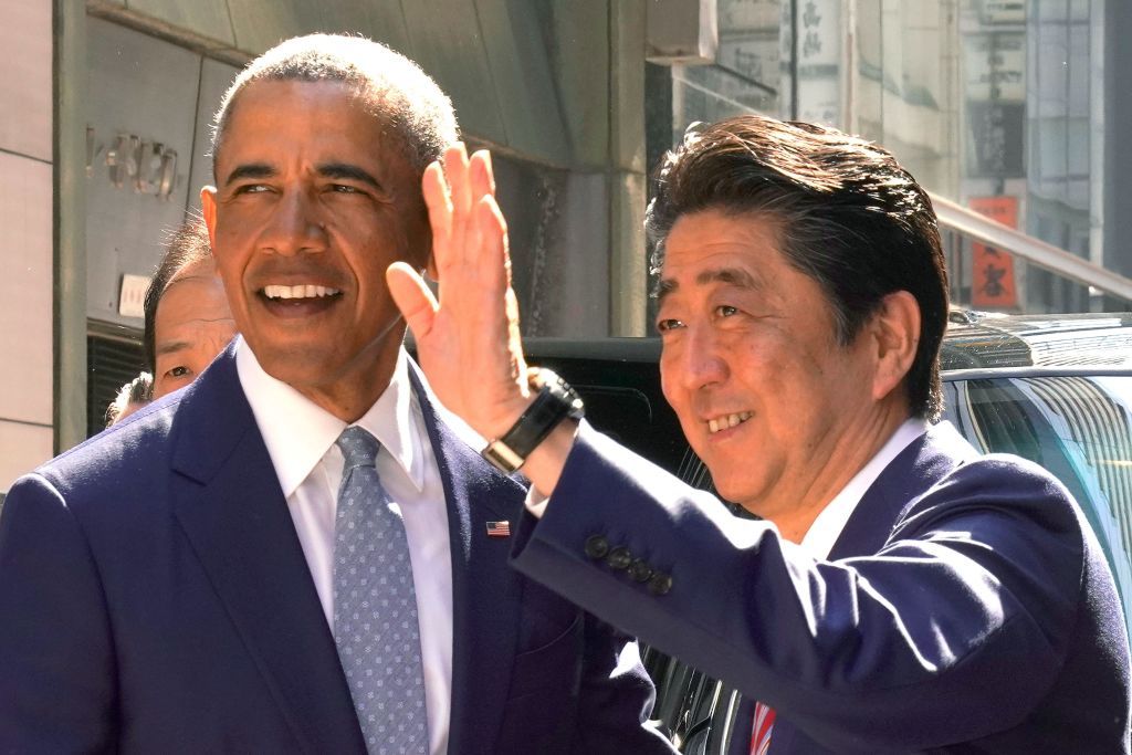
[{"label": "navy suit jacket on the waving man, sleeve buttons showing", "polygon": [[775,755],[1129,752],[1129,640],[1084,516],[946,423],[825,561],[588,428],[520,535],[521,570],[774,706]]}]

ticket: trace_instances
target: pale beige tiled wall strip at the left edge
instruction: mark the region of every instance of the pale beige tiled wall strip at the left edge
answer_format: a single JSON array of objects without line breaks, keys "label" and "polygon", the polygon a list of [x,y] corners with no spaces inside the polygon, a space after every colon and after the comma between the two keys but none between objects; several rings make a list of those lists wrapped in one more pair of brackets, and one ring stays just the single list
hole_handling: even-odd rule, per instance
[{"label": "pale beige tiled wall strip at the left edge", "polygon": [[0,0],[0,492],[51,457],[51,3]]}]

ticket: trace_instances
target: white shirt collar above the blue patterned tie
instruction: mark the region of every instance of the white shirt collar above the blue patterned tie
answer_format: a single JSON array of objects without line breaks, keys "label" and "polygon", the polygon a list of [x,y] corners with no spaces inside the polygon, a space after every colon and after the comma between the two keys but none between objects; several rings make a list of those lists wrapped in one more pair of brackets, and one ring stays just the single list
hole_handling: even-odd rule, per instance
[{"label": "white shirt collar above the blue patterned tie", "polygon": [[[346,423],[286,383],[268,375],[242,336],[237,337],[235,369],[280,487],[283,495],[290,498],[327,452],[334,448],[334,441]],[[401,349],[389,385],[354,424],[377,438],[418,491],[424,487],[421,424],[414,421],[414,415],[419,413],[420,407],[409,383],[408,354]]]}]

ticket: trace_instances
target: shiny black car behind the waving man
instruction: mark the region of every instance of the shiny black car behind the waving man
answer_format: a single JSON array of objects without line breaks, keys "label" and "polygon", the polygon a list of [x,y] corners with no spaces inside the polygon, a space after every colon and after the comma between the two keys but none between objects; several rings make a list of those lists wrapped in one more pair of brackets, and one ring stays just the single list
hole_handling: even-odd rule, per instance
[{"label": "shiny black car behind the waving man", "polygon": [[[524,350],[574,385],[597,429],[711,489],[661,395],[658,338],[529,338]],[[941,363],[945,419],[975,447],[1024,456],[1062,480],[1097,533],[1132,617],[1132,314],[955,310]],[[658,688],[654,718],[681,752],[726,752],[738,693],[657,651],[643,654]]]}]

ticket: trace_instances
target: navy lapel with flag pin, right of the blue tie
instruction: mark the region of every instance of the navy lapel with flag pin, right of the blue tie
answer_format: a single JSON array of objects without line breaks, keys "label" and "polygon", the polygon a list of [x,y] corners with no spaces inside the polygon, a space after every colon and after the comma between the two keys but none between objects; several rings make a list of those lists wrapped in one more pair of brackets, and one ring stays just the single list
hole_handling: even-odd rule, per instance
[{"label": "navy lapel with flag pin, right of the blue tie", "polygon": [[524,490],[468,447],[437,418],[415,366],[410,369],[448,505],[452,547],[452,717],[449,753],[490,753],[503,722],[518,642],[521,582],[508,566],[509,538],[487,523],[523,511]]}]

